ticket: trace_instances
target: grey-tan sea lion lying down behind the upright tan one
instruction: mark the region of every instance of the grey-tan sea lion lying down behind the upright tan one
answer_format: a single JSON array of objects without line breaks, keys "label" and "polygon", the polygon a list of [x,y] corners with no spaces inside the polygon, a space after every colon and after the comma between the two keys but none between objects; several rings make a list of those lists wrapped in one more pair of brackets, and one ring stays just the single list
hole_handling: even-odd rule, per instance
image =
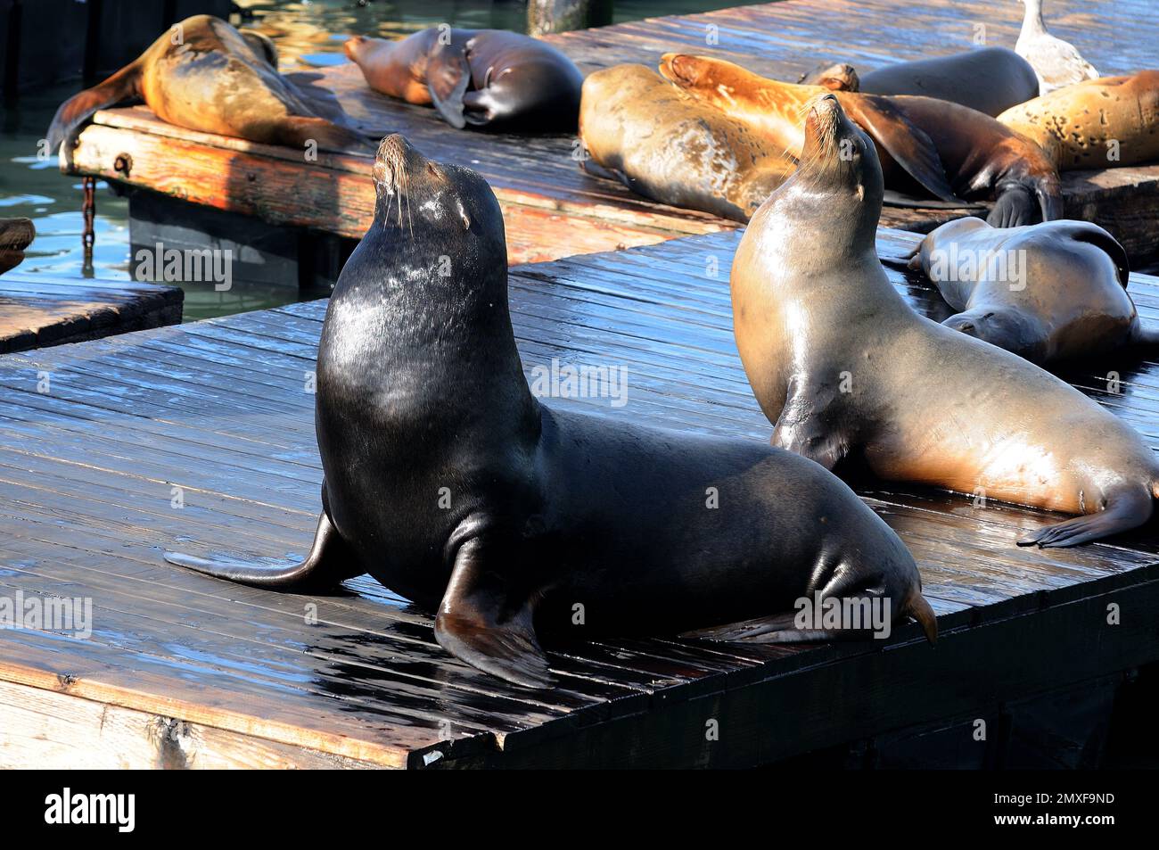
[{"label": "grey-tan sea lion lying down behind the upright tan one", "polygon": [[1159,342],[1127,293],[1127,250],[1089,221],[996,230],[962,218],[921,240],[910,268],[962,311],[942,325],[1032,363]]}]

